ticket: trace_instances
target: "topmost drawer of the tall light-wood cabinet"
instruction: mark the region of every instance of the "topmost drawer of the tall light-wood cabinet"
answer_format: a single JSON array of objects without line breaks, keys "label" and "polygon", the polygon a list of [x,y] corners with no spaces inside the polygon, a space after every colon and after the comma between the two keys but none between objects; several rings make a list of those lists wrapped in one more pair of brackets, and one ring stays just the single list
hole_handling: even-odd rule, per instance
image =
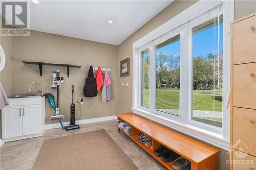
[{"label": "topmost drawer of the tall light-wood cabinet", "polygon": [[256,16],[233,24],[233,64],[249,62],[256,62]]}]

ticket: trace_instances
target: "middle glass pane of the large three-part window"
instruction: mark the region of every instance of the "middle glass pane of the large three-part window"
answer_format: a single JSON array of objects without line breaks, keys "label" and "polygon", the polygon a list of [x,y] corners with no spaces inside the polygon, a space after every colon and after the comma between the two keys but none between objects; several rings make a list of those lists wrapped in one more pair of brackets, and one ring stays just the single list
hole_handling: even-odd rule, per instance
[{"label": "middle glass pane of the large three-part window", "polygon": [[156,109],[179,116],[180,35],[157,45]]}]

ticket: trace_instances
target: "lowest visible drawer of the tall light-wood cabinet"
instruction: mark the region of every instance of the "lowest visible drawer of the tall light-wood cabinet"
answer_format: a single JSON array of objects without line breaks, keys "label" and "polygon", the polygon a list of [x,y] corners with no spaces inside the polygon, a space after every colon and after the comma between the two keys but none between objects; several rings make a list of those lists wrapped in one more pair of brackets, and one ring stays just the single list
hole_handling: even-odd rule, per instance
[{"label": "lowest visible drawer of the tall light-wood cabinet", "polygon": [[256,157],[233,150],[233,170],[256,170]]}]

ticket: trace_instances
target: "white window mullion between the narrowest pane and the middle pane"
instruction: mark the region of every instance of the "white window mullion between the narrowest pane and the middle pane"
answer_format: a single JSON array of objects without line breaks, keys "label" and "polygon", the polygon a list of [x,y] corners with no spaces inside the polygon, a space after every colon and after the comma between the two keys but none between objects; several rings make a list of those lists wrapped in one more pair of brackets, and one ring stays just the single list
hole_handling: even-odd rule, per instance
[{"label": "white window mullion between the narrowest pane and the middle pane", "polygon": [[156,46],[151,42],[150,48],[150,109],[156,110]]}]

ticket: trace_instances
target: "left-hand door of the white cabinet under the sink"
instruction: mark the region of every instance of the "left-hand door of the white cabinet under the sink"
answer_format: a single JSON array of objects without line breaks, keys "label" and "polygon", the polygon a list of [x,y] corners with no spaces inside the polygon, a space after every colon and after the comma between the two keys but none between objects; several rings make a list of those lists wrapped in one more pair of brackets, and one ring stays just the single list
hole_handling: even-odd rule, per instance
[{"label": "left-hand door of the white cabinet under the sink", "polygon": [[2,138],[22,136],[22,107],[9,106],[2,109]]}]

